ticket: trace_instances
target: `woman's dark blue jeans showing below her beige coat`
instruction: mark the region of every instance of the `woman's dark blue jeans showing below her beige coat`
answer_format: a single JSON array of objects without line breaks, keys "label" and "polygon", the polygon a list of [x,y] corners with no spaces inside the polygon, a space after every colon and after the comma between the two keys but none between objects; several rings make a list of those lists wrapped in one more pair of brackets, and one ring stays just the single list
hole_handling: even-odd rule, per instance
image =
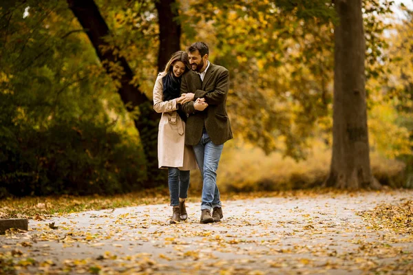
[{"label": "woman's dark blue jeans showing below her beige coat", "polygon": [[189,188],[189,170],[182,171],[178,168],[168,168],[168,186],[171,196],[171,206],[179,206],[179,198],[187,199]]}]

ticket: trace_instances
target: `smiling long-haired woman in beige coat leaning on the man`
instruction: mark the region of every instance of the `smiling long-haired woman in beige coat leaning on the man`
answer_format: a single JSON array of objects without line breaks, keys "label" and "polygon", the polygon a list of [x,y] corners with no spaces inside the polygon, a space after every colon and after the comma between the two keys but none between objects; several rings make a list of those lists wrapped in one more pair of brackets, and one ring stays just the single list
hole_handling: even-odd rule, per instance
[{"label": "smiling long-haired woman in beige coat leaning on the man", "polygon": [[169,195],[172,218],[170,223],[187,219],[185,199],[188,196],[189,170],[196,169],[192,146],[186,146],[185,120],[187,116],[179,110],[180,104],[188,101],[180,96],[180,81],[190,70],[189,57],[179,51],[172,55],[153,87],[153,109],[162,113],[158,131],[159,168],[168,169]]}]

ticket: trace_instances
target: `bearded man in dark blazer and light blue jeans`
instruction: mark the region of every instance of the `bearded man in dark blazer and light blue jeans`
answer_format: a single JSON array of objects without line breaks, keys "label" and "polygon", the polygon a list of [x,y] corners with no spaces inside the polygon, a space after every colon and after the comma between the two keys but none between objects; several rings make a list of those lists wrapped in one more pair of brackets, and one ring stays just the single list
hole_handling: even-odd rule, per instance
[{"label": "bearded man in dark blazer and light blue jeans", "polygon": [[218,162],[224,142],[233,137],[225,107],[229,72],[209,62],[206,43],[193,43],[188,52],[192,72],[182,76],[181,82],[181,94],[191,100],[182,104],[182,110],[189,115],[185,144],[193,146],[203,180],[200,222],[213,223],[223,217],[217,186]]}]

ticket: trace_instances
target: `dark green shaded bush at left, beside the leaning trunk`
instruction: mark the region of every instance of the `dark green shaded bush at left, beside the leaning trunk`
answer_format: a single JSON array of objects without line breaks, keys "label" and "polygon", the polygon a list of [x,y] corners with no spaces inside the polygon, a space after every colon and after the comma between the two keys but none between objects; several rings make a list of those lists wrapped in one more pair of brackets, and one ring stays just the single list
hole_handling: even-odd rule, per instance
[{"label": "dark green shaded bush at left, beside the leaning trunk", "polygon": [[0,197],[138,190],[146,179],[138,140],[92,122],[47,130],[0,129]]}]

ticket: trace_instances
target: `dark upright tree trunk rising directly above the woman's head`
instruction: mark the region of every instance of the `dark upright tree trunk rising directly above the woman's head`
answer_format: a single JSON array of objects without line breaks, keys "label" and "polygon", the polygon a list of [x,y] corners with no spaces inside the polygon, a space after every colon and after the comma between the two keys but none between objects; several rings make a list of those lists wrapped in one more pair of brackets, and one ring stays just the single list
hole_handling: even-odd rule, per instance
[{"label": "dark upright tree trunk rising directly above the woman's head", "polygon": [[176,0],[159,0],[155,5],[159,21],[158,72],[162,72],[171,55],[180,50],[181,25]]}]

